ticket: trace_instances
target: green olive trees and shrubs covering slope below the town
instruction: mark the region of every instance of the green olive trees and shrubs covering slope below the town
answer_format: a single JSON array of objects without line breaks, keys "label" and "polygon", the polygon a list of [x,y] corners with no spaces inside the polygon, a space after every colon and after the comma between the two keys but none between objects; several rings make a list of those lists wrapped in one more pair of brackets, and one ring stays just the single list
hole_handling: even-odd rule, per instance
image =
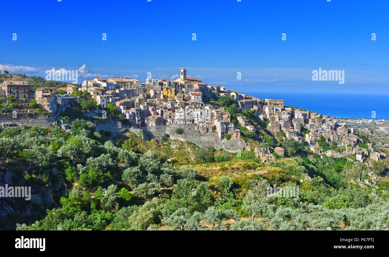
[{"label": "green olive trees and shrubs covering slope below the town", "polygon": [[[238,155],[168,136],[143,141],[131,132],[110,138],[94,126],[76,120],[72,134],[58,127],[1,131],[2,174],[32,186],[32,194],[56,192],[44,208],[2,202],[15,212],[2,229],[387,229],[387,177],[377,190],[363,187],[365,165],[299,146],[265,164],[249,150]],[[298,186],[298,197],[269,196],[273,185]]]}]

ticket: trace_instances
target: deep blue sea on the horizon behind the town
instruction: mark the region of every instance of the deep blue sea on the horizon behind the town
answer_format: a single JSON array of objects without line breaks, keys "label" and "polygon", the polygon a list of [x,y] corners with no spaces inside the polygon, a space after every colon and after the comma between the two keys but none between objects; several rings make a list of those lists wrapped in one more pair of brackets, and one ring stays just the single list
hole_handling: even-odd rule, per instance
[{"label": "deep blue sea on the horizon behind the town", "polygon": [[259,99],[285,100],[284,105],[344,118],[389,120],[389,94],[244,92]]}]

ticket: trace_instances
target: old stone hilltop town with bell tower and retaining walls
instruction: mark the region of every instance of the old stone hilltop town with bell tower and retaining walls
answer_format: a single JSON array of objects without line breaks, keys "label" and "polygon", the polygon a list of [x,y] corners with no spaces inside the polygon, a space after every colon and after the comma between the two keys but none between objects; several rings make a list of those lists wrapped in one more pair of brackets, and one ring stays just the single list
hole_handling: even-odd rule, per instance
[{"label": "old stone hilltop town with bell tower and retaining walls", "polygon": [[[145,83],[134,78],[95,78],[85,80],[79,86],[69,84],[57,90],[33,90],[27,81],[11,80],[3,82],[1,95],[7,98],[12,95],[12,99],[35,99],[47,112],[47,117],[58,116],[75,96],[87,96],[99,109],[93,115],[106,117],[104,110],[116,109],[118,115],[115,117],[120,115],[120,120],[128,123],[121,128],[139,129],[142,138],[161,138],[168,134],[171,138],[231,152],[253,150],[265,163],[277,161],[276,156],[284,156],[285,151],[284,147],[273,144],[269,136],[280,142],[293,139],[315,154],[346,156],[360,162],[386,157],[384,151],[373,148],[372,142],[364,135],[360,138],[356,135],[357,130],[345,123],[354,120],[338,123],[339,119],[330,116],[286,108],[284,100],[258,99],[188,78],[186,73],[186,68],[182,67],[180,78],[176,80],[149,78]],[[18,123],[11,120],[3,119],[2,126]],[[71,132],[71,122],[56,118],[53,124],[46,126],[53,125]],[[175,133],[176,130],[180,133]],[[247,142],[249,138],[258,143]]]}]

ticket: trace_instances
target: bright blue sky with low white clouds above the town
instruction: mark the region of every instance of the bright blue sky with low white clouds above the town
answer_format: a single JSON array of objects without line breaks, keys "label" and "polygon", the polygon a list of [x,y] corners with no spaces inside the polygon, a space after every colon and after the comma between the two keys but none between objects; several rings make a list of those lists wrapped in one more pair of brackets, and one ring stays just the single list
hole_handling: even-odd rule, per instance
[{"label": "bright blue sky with low white clouds above the town", "polygon": [[[79,82],[144,82],[147,72],[176,78],[184,65],[188,76],[241,91],[389,93],[388,7],[374,0],[3,0],[0,70],[79,69]],[[319,68],[345,70],[345,83],[312,81]]]}]

